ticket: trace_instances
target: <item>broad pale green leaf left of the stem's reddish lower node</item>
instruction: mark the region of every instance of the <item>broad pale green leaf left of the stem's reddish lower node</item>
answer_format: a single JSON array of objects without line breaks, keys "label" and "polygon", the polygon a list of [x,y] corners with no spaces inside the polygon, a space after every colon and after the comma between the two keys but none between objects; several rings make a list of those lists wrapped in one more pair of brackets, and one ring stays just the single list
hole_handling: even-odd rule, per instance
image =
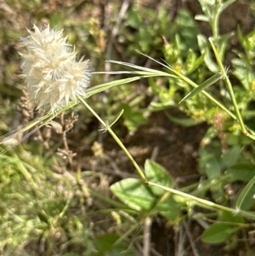
[{"label": "broad pale green leaf left of the stem's reddish lower node", "polygon": [[124,204],[136,211],[150,210],[156,203],[149,187],[139,179],[123,179],[110,186],[110,190]]}]

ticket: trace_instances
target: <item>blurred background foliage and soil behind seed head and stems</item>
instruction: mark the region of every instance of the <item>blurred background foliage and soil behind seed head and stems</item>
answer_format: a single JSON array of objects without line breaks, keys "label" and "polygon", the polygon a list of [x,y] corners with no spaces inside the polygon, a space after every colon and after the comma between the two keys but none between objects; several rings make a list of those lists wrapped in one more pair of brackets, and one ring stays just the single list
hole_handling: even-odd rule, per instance
[{"label": "blurred background foliage and soil behind seed head and stems", "polygon": [[[33,24],[64,29],[95,71],[123,70],[105,62],[113,59],[166,72],[140,50],[196,84],[217,72],[207,40],[214,36],[238,109],[255,130],[255,2],[215,2],[1,1],[1,135],[42,114],[18,78],[19,38]],[[91,85],[125,77],[94,75]],[[179,104],[190,91],[183,80],[155,77],[87,101],[109,121],[124,109],[113,130],[151,181],[234,207],[255,175],[254,142],[203,94]],[[221,80],[207,91],[233,111]],[[84,106],[73,112],[0,155],[1,255],[254,255],[253,220],[148,188]],[[243,210],[254,211],[254,194],[251,187]]]}]

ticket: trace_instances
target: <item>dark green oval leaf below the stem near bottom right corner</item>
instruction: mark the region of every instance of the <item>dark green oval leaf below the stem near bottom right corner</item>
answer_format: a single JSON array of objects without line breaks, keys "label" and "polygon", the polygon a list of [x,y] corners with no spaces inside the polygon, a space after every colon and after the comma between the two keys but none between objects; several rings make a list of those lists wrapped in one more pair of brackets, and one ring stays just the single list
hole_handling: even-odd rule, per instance
[{"label": "dark green oval leaf below the stem near bottom right corner", "polygon": [[224,223],[214,223],[203,232],[201,239],[205,243],[223,243],[228,240],[240,227],[233,227]]}]

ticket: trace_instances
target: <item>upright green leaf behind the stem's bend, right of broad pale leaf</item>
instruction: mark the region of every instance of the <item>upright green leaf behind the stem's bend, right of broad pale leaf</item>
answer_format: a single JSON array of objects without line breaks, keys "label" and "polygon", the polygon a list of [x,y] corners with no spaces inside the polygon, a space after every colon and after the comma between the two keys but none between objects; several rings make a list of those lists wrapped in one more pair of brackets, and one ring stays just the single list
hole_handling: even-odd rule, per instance
[{"label": "upright green leaf behind the stem's bend, right of broad pale leaf", "polygon": [[[170,177],[170,174],[168,174],[167,170],[164,169],[161,165],[152,160],[147,159],[145,161],[144,169],[145,176],[149,181],[171,188],[173,181]],[[157,196],[161,196],[165,193],[165,191],[162,190],[161,188],[156,188],[154,186],[150,187],[150,189],[152,190],[154,195]]]}]

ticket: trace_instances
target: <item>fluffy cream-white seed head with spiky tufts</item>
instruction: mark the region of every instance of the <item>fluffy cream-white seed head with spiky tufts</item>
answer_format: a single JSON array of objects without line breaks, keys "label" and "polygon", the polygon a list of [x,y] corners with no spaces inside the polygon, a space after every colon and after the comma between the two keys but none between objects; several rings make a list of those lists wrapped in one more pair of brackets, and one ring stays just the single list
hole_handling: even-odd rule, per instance
[{"label": "fluffy cream-white seed head with spiky tufts", "polygon": [[25,52],[20,65],[27,91],[37,109],[44,107],[54,112],[68,105],[69,100],[85,96],[89,86],[91,64],[89,59],[76,61],[77,52],[66,42],[62,30],[47,26],[21,38]]}]

